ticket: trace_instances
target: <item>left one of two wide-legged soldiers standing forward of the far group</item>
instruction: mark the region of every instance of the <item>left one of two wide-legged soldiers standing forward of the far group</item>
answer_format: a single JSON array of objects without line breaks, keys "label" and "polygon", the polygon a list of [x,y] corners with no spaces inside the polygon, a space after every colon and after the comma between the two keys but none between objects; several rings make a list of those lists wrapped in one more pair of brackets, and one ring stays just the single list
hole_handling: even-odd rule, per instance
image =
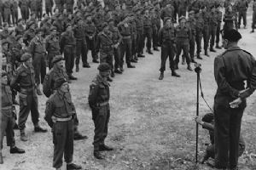
[{"label": "left one of two wide-legged soldiers standing forward of the far group", "polygon": [[164,27],[159,31],[159,43],[161,47],[161,66],[159,80],[163,80],[166,71],[166,59],[169,57],[169,65],[172,77],[180,77],[174,69],[174,56],[176,52],[175,27],[172,26],[172,19],[166,17]]}]

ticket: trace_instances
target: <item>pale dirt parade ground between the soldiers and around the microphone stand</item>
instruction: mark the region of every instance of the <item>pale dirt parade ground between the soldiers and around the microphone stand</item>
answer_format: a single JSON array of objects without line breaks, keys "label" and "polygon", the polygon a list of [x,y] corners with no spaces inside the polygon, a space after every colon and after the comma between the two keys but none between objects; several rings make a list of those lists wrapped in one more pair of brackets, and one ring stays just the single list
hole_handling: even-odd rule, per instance
[{"label": "pale dirt parade ground between the soldiers and around the microphone stand", "polygon": [[[248,28],[241,29],[243,36],[239,43],[256,56],[256,33],[250,34],[251,17]],[[199,60],[202,65],[201,82],[205,98],[210,106],[216,91],[213,77],[213,59],[224,52],[210,53]],[[79,116],[79,131],[89,139],[74,142],[75,163],[88,170],[211,170],[207,165],[195,165],[195,105],[196,74],[180,65],[177,71],[181,77],[171,77],[166,69],[165,78],[159,81],[160,53],[146,54],[139,59],[136,69],[127,69],[122,76],[117,75],[111,83],[111,117],[106,144],[115,150],[103,153],[104,161],[92,156],[94,125],[87,104],[90,81],[96,76],[96,64],[90,69],[75,73],[79,80],[71,84],[73,103]],[[168,65],[166,65],[168,68]],[[242,119],[241,132],[246,141],[246,151],[239,159],[241,170],[256,170],[256,94],[247,100],[247,109]],[[44,122],[46,98],[39,97],[41,124]],[[19,108],[17,108],[19,111]],[[200,99],[200,115],[209,112],[207,105]],[[29,140],[20,141],[19,131],[15,131],[17,146],[24,148],[24,155],[10,155],[9,148],[3,149],[2,170],[49,170],[52,168],[53,143],[50,128],[48,133],[34,133],[31,118],[26,122]],[[209,144],[206,130],[199,130],[199,158]],[[65,168],[64,168],[65,169]]]}]

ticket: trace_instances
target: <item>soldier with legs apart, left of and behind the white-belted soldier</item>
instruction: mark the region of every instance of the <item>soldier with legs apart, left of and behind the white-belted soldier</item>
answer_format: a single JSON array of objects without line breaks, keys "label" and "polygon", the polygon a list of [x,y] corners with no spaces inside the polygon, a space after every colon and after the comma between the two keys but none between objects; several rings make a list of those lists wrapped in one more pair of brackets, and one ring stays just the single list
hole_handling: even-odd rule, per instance
[{"label": "soldier with legs apart, left of and behind the white-belted soldier", "polygon": [[20,113],[19,113],[19,128],[20,140],[27,141],[25,133],[26,119],[31,111],[32,122],[35,132],[46,133],[47,130],[40,127],[39,112],[38,112],[38,94],[36,93],[35,72],[32,67],[32,55],[23,54],[20,61],[22,64],[15,71],[14,77],[10,82],[10,87],[20,93]]}]

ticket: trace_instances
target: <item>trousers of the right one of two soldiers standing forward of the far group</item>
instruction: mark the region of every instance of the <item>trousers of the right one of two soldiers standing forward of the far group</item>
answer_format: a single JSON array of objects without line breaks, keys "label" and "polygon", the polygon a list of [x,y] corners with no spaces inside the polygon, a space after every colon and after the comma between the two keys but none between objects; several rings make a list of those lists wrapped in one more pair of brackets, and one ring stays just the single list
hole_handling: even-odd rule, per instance
[{"label": "trousers of the right one of two soldiers standing forward of the far group", "polygon": [[176,46],[177,46],[177,54],[176,54],[176,58],[175,58],[175,63],[176,64],[179,63],[179,55],[183,51],[183,56],[185,57],[186,62],[189,65],[191,62],[191,59],[189,57],[189,42],[179,42],[177,40]]}]

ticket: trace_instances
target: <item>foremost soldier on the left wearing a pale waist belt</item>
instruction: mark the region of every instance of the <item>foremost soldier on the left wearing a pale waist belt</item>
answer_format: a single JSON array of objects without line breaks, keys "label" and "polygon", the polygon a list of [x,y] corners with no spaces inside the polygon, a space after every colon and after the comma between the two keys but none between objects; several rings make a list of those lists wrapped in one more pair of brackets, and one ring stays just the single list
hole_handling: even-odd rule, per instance
[{"label": "foremost soldier on the left wearing a pale waist belt", "polygon": [[67,80],[63,77],[55,81],[55,94],[46,102],[44,119],[52,128],[54,156],[53,167],[61,170],[63,155],[67,162],[67,170],[82,169],[73,163],[73,117],[75,107],[69,95]]}]

